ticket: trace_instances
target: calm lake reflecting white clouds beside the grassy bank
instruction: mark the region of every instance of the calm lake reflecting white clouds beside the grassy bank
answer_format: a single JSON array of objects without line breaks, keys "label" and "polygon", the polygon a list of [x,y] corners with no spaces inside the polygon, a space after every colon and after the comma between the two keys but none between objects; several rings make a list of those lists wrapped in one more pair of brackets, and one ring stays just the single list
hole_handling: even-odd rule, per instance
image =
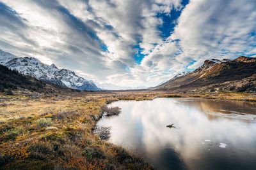
[{"label": "calm lake reflecting white clouds beside the grassy bank", "polygon": [[256,103],[159,98],[109,106],[122,112],[97,124],[111,127],[108,141],[156,169],[256,169]]}]

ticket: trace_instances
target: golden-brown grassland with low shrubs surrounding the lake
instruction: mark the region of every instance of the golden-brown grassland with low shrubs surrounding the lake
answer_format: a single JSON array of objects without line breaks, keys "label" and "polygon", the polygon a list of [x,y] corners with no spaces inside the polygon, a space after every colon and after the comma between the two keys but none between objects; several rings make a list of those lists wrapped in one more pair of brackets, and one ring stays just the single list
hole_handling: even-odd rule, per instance
[{"label": "golden-brown grassland with low shrubs surrounding the lake", "polygon": [[0,94],[0,169],[152,169],[143,159],[93,134],[106,104],[156,97],[256,101],[255,94],[73,92]]}]

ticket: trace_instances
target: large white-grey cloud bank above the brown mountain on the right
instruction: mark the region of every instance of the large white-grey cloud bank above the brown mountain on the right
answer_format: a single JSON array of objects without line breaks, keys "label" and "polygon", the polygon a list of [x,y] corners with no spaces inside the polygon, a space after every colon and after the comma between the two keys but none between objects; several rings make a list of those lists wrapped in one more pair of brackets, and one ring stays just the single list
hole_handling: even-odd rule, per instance
[{"label": "large white-grey cloud bank above the brown mountain on the right", "polygon": [[205,59],[255,55],[255,6],[255,1],[250,0],[191,0],[182,10],[173,34],[157,45],[141,65],[163,76],[166,71],[173,75],[195,69]]}]

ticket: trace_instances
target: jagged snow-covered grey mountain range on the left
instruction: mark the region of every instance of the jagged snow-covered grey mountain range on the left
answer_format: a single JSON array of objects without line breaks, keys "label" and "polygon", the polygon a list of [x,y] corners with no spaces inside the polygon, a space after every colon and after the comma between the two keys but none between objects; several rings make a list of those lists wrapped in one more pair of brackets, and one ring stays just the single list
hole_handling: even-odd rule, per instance
[{"label": "jagged snow-covered grey mountain range on the left", "polygon": [[77,76],[73,71],[59,69],[54,64],[51,66],[44,64],[34,57],[17,57],[0,50],[0,64],[38,80],[63,87],[79,90],[100,90],[93,81]]}]

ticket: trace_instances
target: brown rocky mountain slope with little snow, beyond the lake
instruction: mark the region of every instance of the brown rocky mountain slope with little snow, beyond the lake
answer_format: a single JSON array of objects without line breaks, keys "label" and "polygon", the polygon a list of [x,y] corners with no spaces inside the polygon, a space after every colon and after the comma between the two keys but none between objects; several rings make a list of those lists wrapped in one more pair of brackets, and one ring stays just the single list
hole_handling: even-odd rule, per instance
[{"label": "brown rocky mountain slope with little snow, beyond the lake", "polygon": [[173,92],[256,91],[256,58],[205,60],[195,71],[172,78],[152,90]]}]

